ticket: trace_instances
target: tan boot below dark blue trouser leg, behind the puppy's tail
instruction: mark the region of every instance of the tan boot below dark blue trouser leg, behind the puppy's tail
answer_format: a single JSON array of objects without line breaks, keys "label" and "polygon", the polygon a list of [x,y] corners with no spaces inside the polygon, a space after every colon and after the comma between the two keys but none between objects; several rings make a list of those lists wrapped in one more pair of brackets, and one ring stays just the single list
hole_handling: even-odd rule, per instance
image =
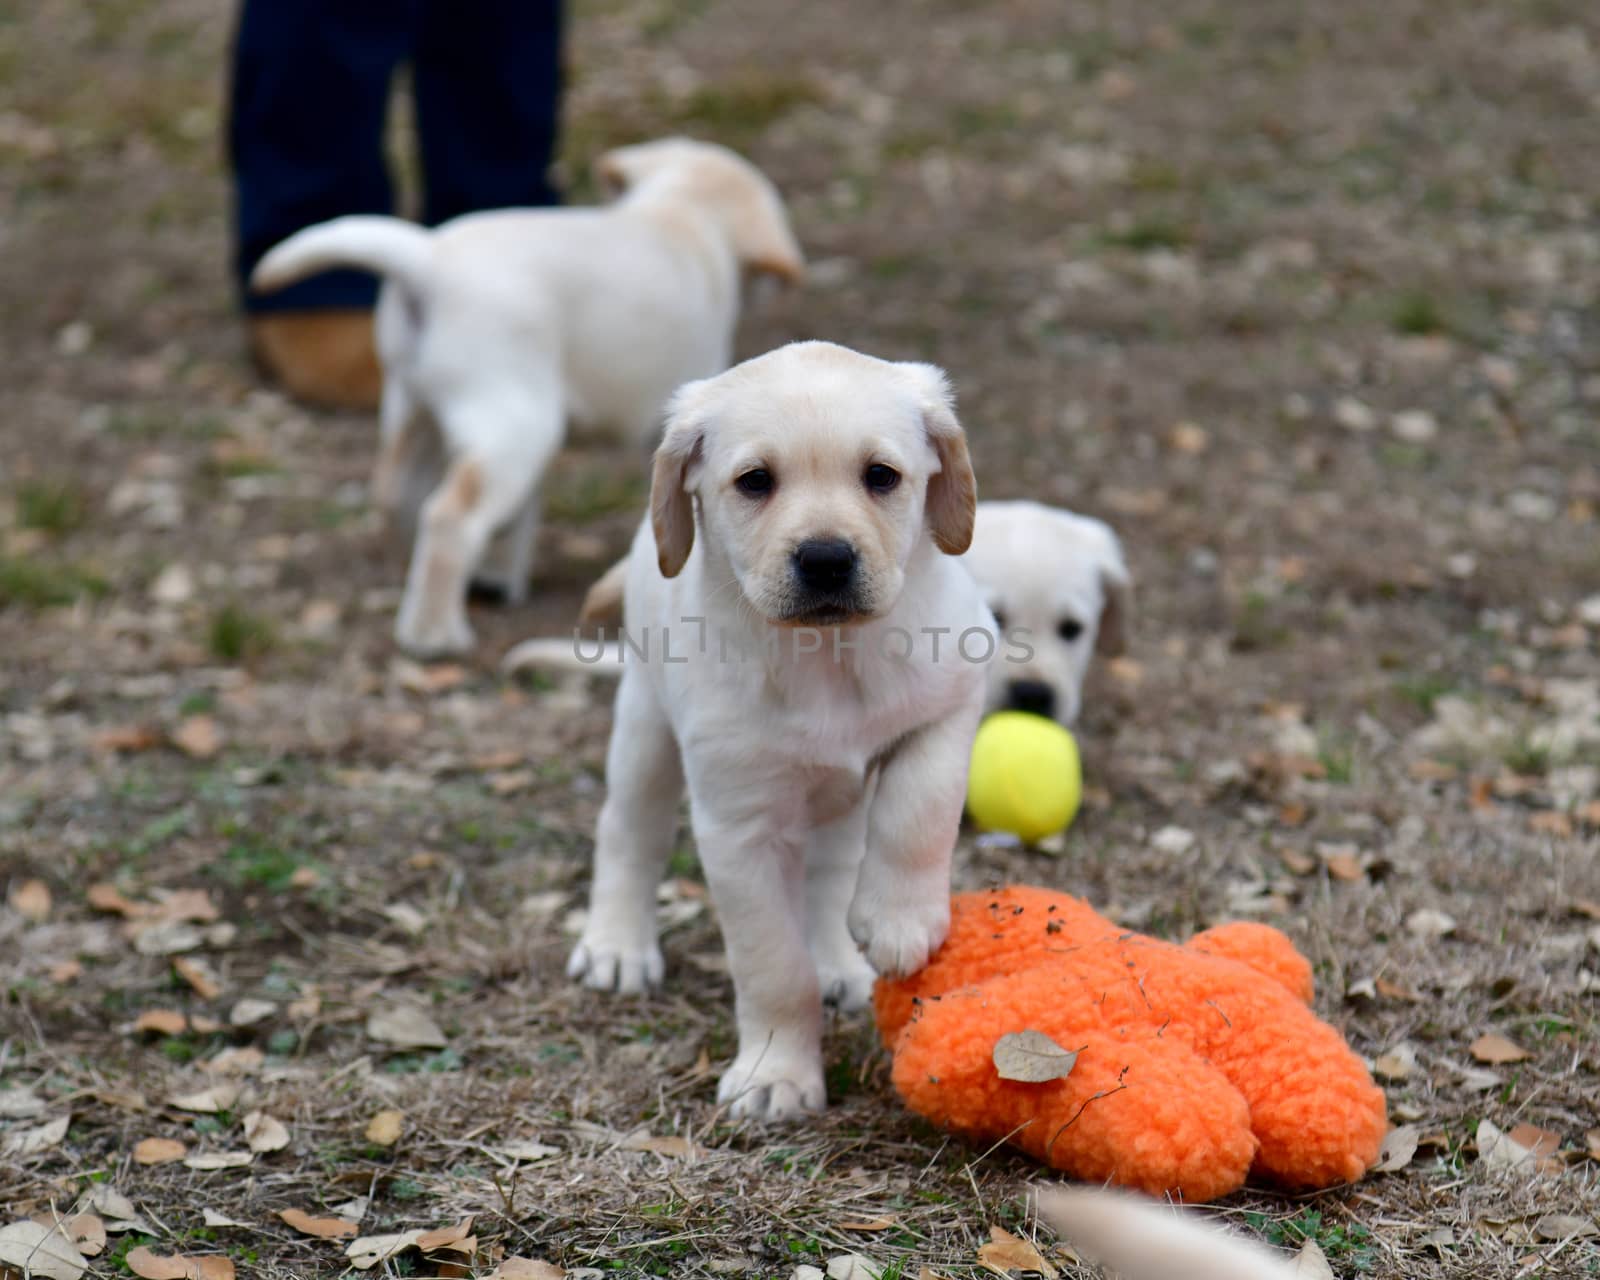
[{"label": "tan boot below dark blue trouser leg, behind the puppy's tail", "polygon": [[378,408],[384,379],[370,310],[262,312],[250,320],[250,346],[262,371],[296,400],[336,410]]}]

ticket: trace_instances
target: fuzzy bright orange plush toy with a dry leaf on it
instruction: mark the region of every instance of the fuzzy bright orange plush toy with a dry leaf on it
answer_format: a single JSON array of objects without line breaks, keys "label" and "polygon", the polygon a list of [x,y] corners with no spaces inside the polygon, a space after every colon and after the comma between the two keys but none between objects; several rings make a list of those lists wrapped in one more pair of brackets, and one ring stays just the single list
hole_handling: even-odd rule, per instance
[{"label": "fuzzy bright orange plush toy with a dry leaf on it", "polygon": [[[1384,1094],[1310,995],[1310,965],[1266,925],[1176,946],[1008,888],[957,896],[944,947],[878,982],[875,1005],[918,1115],[1074,1178],[1198,1202],[1251,1173],[1347,1182],[1378,1158]],[[1070,1072],[1000,1078],[995,1042],[1022,1030],[1077,1050]]]}]

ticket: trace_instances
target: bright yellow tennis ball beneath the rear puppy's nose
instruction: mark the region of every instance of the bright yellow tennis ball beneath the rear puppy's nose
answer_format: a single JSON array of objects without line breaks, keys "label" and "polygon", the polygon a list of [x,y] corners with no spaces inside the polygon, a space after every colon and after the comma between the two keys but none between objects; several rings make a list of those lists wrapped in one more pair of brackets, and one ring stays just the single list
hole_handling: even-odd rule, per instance
[{"label": "bright yellow tennis ball beneath the rear puppy's nose", "polygon": [[979,827],[1034,845],[1062,830],[1082,798],[1078,744],[1054,720],[1002,710],[978,726],[966,811]]}]

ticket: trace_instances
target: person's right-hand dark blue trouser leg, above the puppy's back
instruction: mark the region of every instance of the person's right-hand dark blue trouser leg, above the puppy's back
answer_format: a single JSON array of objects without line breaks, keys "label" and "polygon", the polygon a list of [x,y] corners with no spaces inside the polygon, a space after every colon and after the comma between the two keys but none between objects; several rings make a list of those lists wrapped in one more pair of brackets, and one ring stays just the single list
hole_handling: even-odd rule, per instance
[{"label": "person's right-hand dark blue trouser leg, above the puppy's back", "polygon": [[413,77],[424,222],[558,202],[560,0],[424,0]]}]

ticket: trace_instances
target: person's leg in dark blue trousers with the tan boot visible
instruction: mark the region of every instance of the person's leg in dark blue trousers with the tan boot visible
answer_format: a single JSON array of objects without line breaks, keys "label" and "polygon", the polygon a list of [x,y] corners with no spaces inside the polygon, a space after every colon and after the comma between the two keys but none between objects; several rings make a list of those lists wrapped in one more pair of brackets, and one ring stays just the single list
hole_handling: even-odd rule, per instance
[{"label": "person's leg in dark blue trousers with the tan boot visible", "polygon": [[240,11],[227,126],[234,272],[258,358],[307,400],[376,402],[378,282],[339,270],[254,294],[250,270],[302,227],[390,210],[384,118],[395,67],[414,45],[419,5],[245,0]]}]

